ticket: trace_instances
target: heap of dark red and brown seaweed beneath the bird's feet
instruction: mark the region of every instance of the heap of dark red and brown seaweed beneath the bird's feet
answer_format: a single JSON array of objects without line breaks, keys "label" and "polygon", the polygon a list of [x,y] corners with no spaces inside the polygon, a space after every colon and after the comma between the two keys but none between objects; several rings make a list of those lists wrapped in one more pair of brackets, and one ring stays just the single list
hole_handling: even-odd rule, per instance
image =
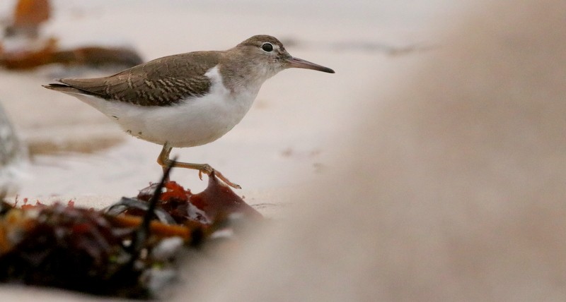
[{"label": "heap of dark red and brown seaweed beneath the bird's feet", "polygon": [[105,210],[1,201],[0,282],[155,298],[173,283],[183,249],[233,241],[238,222],[261,220],[214,174],[192,194],[165,181],[168,171]]}]

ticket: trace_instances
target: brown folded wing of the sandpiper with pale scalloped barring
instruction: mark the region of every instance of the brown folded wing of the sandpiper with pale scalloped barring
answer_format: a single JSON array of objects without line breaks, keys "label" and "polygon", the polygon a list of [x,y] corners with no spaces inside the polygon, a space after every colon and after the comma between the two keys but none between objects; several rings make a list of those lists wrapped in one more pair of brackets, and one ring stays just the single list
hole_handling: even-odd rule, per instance
[{"label": "brown folded wing of the sandpiper with pale scalloped barring", "polygon": [[165,56],[105,78],[61,79],[87,95],[141,106],[167,106],[206,95],[212,83],[204,75],[216,66],[221,52],[190,52]]}]

